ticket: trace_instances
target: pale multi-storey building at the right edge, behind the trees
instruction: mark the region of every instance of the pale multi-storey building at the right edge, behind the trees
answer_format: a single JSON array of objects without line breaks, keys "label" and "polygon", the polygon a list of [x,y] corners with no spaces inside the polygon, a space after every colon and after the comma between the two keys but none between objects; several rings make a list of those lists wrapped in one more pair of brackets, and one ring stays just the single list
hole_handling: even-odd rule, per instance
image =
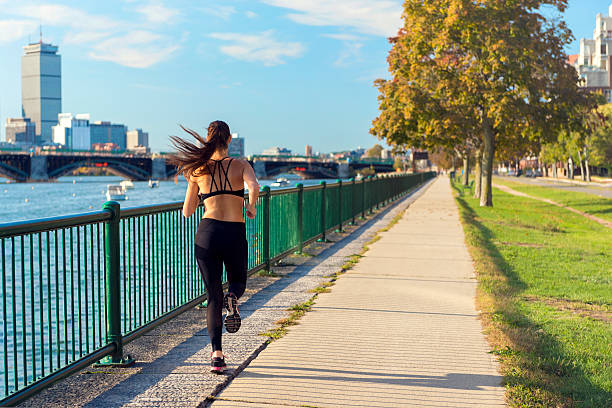
[{"label": "pale multi-storey building at the right edge, behind the trees", "polygon": [[611,100],[612,5],[608,13],[608,16],[597,14],[593,38],[580,40],[580,54],[570,56],[570,63],[584,80],[582,86],[601,91]]}]

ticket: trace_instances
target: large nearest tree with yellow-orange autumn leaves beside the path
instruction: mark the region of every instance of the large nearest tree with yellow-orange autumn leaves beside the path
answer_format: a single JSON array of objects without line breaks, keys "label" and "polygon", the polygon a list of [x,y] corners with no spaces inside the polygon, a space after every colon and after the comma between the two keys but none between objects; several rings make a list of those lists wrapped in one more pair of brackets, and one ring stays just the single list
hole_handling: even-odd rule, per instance
[{"label": "large nearest tree with yellow-orange autumn leaves beside the path", "polygon": [[496,149],[546,141],[587,103],[565,62],[571,33],[539,13],[545,5],[562,12],[567,0],[406,0],[371,133],[390,145],[478,146],[480,203],[492,206]]}]

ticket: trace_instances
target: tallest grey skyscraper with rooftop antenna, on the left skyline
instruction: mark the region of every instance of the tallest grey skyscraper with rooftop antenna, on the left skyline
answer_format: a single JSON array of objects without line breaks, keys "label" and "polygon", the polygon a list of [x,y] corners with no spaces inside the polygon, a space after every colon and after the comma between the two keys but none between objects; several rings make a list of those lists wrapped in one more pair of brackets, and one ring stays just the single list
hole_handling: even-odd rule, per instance
[{"label": "tallest grey skyscraper with rooftop antenna, on the left skyline", "polygon": [[57,47],[39,43],[24,47],[21,57],[22,116],[36,125],[36,143],[51,142],[62,111],[62,66]]}]

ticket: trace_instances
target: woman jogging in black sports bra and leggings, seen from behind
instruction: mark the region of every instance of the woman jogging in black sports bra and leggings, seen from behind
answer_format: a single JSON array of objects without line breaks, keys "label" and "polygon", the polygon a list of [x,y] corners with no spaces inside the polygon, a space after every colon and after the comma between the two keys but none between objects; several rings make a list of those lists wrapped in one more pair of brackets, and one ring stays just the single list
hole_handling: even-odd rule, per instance
[{"label": "woman jogging in black sports bra and leggings, seen from behind", "polygon": [[[257,214],[255,203],[259,184],[249,162],[227,156],[232,136],[225,122],[211,122],[206,140],[193,130],[181,128],[193,136],[199,146],[172,136],[178,152],[172,156],[171,163],[188,182],[183,215],[190,217],[200,202],[204,204],[204,216],[195,238],[195,256],[208,295],[206,318],[213,350],[211,371],[222,373],[226,367],[221,349],[222,308],[227,309],[226,330],[237,332],[241,322],[238,299],[246,288],[244,184],[249,188],[249,204],[246,206],[249,218],[255,218]],[[225,296],[221,282],[223,264],[229,283]]]}]

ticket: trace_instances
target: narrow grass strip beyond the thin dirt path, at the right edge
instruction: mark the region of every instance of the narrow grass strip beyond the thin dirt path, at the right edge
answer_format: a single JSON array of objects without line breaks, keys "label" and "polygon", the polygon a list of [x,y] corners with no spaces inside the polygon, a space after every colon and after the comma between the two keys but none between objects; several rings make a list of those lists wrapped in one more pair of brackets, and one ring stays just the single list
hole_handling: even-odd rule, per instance
[{"label": "narrow grass strip beyond the thin dirt path, at the right edge", "polygon": [[517,181],[509,181],[501,177],[494,179],[495,183],[503,184],[534,197],[548,198],[566,207],[594,215],[604,220],[612,221],[612,200],[594,194],[568,191],[562,188],[530,186]]}]

